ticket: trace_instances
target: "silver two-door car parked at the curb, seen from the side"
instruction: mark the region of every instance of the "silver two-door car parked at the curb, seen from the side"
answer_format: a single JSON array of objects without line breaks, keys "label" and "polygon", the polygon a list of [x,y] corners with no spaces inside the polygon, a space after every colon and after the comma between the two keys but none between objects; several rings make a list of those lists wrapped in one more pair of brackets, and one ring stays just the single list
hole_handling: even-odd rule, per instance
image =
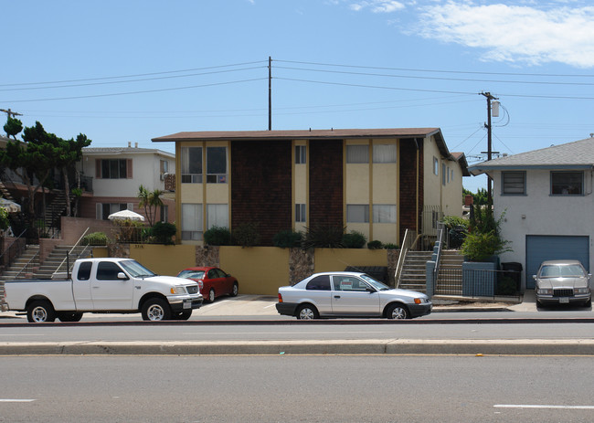
[{"label": "silver two-door car parked at the curb, seen from the side", "polygon": [[366,273],[315,273],[293,286],[279,288],[276,310],[297,319],[387,317],[412,319],[431,312],[427,295],[392,289]]}]

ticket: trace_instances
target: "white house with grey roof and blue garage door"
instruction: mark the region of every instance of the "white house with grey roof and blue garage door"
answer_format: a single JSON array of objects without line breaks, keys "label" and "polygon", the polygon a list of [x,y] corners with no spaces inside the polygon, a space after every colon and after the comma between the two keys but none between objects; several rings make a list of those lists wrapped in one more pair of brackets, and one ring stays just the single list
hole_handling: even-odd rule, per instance
[{"label": "white house with grey roof and blue garage door", "polygon": [[493,178],[495,218],[512,242],[501,261],[520,262],[524,289],[533,289],[546,259],[578,259],[594,267],[594,138],[519,153],[469,167]]}]

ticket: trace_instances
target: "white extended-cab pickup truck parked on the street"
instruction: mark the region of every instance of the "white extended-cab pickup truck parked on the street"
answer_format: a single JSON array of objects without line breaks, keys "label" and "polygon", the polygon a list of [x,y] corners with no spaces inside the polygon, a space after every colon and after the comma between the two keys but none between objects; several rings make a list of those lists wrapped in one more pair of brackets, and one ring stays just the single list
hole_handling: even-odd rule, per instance
[{"label": "white extended-cab pickup truck parked on the street", "polygon": [[83,312],[187,320],[202,301],[195,281],[155,275],[133,259],[78,259],[71,279],[5,281],[8,310],[27,311],[31,323],[79,322]]}]

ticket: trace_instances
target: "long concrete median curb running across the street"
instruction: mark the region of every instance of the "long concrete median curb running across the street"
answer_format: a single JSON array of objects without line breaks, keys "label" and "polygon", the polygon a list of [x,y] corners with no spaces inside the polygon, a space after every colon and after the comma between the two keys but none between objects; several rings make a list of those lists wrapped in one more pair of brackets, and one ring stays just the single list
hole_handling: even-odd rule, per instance
[{"label": "long concrete median curb running across the street", "polygon": [[3,343],[3,355],[484,354],[594,355],[594,339]]}]

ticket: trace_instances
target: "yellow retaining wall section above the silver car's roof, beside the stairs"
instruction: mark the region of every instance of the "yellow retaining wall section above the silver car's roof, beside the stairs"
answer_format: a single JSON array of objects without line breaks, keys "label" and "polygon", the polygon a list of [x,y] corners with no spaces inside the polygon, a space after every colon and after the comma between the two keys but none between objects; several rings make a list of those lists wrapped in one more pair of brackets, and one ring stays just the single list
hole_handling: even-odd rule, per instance
[{"label": "yellow retaining wall section above the silver car's roof, beside the stairs", "polygon": [[315,273],[348,266],[387,266],[387,249],[315,249]]}]

